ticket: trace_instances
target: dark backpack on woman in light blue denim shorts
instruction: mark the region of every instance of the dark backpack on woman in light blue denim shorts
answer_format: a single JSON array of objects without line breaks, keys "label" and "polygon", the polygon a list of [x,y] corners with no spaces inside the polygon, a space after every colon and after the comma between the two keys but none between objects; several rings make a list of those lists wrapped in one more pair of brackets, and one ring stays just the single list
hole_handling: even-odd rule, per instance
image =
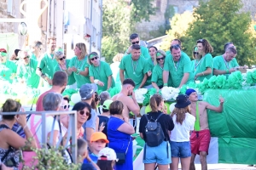
[{"label": "dark backpack on woman in light blue denim shorts", "polygon": [[[163,113],[160,113],[160,116],[162,116]],[[154,122],[151,122],[152,118],[150,120],[148,120],[148,116],[145,115],[148,123],[145,126],[145,134],[146,134],[146,139],[147,139],[147,144],[150,147],[154,147],[154,146],[158,146],[159,144],[161,144],[164,139],[166,139],[165,137],[165,133],[163,132],[163,129],[160,125],[159,122],[157,122],[160,118],[160,116],[158,116]]]}]

